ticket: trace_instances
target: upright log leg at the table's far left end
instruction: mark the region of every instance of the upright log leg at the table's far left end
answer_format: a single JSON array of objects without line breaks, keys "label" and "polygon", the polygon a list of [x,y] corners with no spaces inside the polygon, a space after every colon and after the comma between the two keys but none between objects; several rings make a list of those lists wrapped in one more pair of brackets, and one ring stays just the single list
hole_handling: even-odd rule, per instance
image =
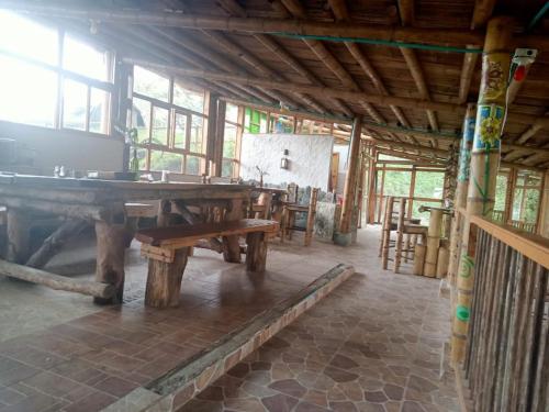
[{"label": "upright log leg at the table's far left end", "polygon": [[8,208],[7,212],[8,261],[23,264],[30,254],[31,233],[30,219],[26,212],[20,209]]}]

